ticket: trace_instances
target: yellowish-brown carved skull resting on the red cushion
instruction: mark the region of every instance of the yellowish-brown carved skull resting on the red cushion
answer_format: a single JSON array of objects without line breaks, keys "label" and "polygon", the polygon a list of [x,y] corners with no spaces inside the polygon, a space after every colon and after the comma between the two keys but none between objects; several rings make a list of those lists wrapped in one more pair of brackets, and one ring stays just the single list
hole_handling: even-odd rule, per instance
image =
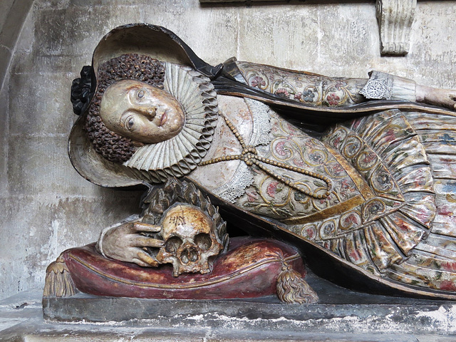
[{"label": "yellowish-brown carved skull resting on the red cushion", "polygon": [[217,239],[214,222],[202,209],[175,204],[165,212],[160,225],[165,243],[157,261],[172,264],[173,276],[211,271],[209,257],[219,254],[223,246]]}]

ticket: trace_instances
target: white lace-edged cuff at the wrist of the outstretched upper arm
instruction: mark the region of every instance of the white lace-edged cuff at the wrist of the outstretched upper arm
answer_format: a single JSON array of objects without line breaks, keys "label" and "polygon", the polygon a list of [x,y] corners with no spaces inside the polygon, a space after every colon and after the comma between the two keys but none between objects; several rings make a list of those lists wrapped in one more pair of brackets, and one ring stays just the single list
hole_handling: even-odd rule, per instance
[{"label": "white lace-edged cuff at the wrist of the outstretched upper arm", "polygon": [[416,83],[407,78],[371,71],[369,79],[359,92],[368,100],[416,101]]}]

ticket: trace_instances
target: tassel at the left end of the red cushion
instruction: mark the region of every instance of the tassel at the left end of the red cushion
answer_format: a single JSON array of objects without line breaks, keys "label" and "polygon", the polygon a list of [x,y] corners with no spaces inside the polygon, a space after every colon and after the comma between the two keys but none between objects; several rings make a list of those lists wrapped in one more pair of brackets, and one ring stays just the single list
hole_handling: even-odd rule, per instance
[{"label": "tassel at the left end of the red cushion", "polygon": [[46,269],[43,296],[71,297],[78,292],[63,257],[58,257]]}]

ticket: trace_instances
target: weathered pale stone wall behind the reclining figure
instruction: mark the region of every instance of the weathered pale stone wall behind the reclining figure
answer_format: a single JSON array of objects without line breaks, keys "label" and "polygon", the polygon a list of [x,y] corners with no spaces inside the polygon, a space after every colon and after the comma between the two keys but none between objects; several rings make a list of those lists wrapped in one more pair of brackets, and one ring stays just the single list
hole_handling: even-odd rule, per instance
[{"label": "weathered pale stone wall behind the reclining figure", "polygon": [[455,17],[456,1],[418,1],[410,53],[381,57],[374,1],[1,0],[0,299],[42,287],[63,249],[139,211],[139,193],[91,185],[66,153],[71,81],[111,28],[166,26],[213,64],[236,56],[348,77],[375,68],[456,88]]}]

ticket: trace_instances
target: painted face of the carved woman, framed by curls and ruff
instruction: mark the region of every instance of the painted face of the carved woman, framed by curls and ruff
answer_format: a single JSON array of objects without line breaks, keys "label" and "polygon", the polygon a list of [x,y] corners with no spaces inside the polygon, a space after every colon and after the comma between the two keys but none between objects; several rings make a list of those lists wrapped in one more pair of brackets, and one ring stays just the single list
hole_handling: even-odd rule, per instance
[{"label": "painted face of the carved woman, framed by curls and ruff", "polygon": [[100,118],[115,133],[153,144],[177,135],[184,127],[185,112],[165,90],[140,81],[123,80],[105,90]]}]

